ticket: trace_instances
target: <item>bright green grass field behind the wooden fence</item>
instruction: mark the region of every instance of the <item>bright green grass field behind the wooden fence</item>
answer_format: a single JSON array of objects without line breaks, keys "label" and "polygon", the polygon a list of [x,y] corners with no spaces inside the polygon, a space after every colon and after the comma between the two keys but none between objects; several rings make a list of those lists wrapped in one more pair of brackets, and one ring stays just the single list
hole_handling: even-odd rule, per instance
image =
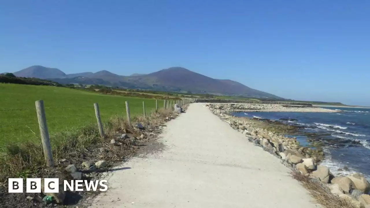
[{"label": "bright green grass field behind the wooden fence", "polygon": [[[0,83],[0,95],[0,148],[9,142],[40,142],[36,100],[44,100],[50,135],[96,124],[94,103],[99,104],[102,122],[113,115],[125,116],[125,101],[129,102],[131,116],[142,115],[142,101],[145,101],[147,113],[155,109],[152,99],[102,95],[64,87]],[[158,107],[163,107],[162,100],[158,100]]]}]

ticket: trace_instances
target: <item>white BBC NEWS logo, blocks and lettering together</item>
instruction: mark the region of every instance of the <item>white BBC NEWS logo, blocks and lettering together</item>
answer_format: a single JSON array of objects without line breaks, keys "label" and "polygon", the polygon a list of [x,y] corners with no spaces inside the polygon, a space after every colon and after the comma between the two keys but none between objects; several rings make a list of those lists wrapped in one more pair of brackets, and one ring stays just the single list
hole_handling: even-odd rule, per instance
[{"label": "white BBC NEWS logo, blocks and lettering together", "polygon": [[[63,190],[97,191],[99,189],[99,191],[107,191],[107,183],[107,180],[64,180]],[[9,178],[8,185],[9,193],[23,193],[23,178]],[[41,178],[26,178],[26,193],[41,193],[41,185]],[[58,193],[60,185],[59,178],[44,178],[44,193]]]}]

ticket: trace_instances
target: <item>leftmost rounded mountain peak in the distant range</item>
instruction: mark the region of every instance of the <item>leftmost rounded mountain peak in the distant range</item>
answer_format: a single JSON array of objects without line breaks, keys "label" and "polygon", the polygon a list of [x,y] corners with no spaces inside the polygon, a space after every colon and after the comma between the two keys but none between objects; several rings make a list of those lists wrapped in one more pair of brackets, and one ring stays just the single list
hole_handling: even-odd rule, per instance
[{"label": "leftmost rounded mountain peak in the distant range", "polygon": [[61,78],[65,73],[57,68],[31,66],[13,73],[17,77],[35,77],[40,79]]}]

